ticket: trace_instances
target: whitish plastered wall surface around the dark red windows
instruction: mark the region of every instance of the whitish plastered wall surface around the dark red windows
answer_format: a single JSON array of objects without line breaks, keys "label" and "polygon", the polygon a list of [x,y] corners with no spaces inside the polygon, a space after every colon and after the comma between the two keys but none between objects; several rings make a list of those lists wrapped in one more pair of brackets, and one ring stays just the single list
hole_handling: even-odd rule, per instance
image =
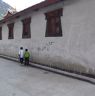
[{"label": "whitish plastered wall surface around the dark red windows", "polygon": [[[63,7],[62,37],[45,37],[44,13]],[[29,14],[31,39],[22,39],[20,17],[15,20],[14,39],[8,39],[8,28],[3,24],[0,53],[16,57],[20,46],[28,48],[31,60],[79,72],[95,73],[95,0],[66,0]],[[28,16],[28,15],[27,15]],[[11,21],[12,22],[12,21]]]}]

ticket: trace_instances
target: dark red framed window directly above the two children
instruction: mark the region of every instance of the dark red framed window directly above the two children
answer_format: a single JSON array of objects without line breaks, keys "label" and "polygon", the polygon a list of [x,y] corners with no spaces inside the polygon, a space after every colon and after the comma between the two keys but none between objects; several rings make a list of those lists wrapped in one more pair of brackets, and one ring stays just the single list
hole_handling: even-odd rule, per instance
[{"label": "dark red framed window directly above the two children", "polygon": [[23,23],[22,38],[31,38],[31,30],[30,30],[31,17],[23,19],[22,23]]}]

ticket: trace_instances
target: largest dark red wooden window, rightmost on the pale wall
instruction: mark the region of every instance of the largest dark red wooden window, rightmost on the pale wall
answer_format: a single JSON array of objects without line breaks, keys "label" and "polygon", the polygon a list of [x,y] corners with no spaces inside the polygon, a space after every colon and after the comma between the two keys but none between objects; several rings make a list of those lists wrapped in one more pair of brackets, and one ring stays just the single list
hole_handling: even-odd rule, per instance
[{"label": "largest dark red wooden window, rightmost on the pale wall", "polygon": [[57,9],[48,13],[45,13],[47,25],[46,25],[46,37],[58,37],[62,36],[61,28],[61,16],[63,9]]}]

